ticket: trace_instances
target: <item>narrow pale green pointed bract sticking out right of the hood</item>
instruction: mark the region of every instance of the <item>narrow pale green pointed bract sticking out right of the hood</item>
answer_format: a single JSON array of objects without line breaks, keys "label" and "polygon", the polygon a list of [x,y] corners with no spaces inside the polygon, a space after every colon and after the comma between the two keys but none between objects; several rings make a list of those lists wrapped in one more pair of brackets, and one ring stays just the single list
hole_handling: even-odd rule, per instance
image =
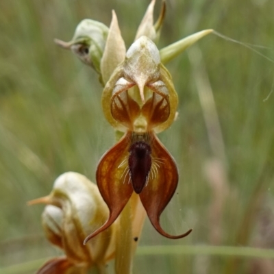
[{"label": "narrow pale green pointed bract sticking out right of the hood", "polygon": [[205,30],[202,30],[201,32],[196,32],[195,34],[187,36],[186,38],[182,40],[174,42],[173,44],[167,47],[164,47],[163,49],[160,50],[162,64],[166,64],[169,61],[173,60],[173,58],[179,55],[179,53],[182,53],[188,47],[190,47],[195,42],[203,38],[203,36],[211,34],[213,31],[214,31],[213,29],[205,29]]}]

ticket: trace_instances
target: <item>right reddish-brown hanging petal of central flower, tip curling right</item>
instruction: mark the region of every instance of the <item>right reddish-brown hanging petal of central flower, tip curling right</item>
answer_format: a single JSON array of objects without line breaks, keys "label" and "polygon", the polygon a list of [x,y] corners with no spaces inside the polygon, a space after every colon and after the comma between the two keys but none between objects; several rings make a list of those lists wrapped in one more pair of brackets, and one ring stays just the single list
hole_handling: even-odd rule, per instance
[{"label": "right reddish-brown hanging petal of central flower, tip curling right", "polygon": [[[154,158],[154,167],[151,167],[151,174],[147,186],[145,186],[140,193],[142,205],[147,211],[147,216],[153,227],[155,227],[162,236],[171,239],[183,238],[190,234],[192,229],[184,234],[172,236],[164,232],[160,226],[160,215],[173,197],[177,188],[177,166],[172,156],[154,134],[151,134],[151,151],[152,158]],[[157,171],[155,169],[157,169]]]}]

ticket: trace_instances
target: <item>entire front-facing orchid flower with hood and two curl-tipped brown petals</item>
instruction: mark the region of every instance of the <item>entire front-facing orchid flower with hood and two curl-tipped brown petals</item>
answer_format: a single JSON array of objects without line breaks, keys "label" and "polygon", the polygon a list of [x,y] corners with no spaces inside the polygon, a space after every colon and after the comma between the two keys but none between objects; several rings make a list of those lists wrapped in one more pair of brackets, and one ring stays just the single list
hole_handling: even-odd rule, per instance
[{"label": "entire front-facing orchid flower with hood and two curl-tipped brown petals", "polygon": [[138,38],[128,49],[124,62],[105,85],[102,103],[108,121],[125,134],[97,167],[97,185],[110,216],[84,242],[112,225],[133,192],[140,196],[160,234],[173,239],[187,236],[192,229],[172,236],[160,226],[160,215],[177,188],[178,171],[155,133],[173,123],[177,93],[157,47],[147,36]]}]

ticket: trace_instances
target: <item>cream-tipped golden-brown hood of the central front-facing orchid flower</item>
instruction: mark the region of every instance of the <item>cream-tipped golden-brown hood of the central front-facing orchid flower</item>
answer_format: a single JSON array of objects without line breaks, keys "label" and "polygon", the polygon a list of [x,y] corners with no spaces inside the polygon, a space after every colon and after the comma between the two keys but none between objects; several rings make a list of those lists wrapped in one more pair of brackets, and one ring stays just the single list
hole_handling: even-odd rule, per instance
[{"label": "cream-tipped golden-brown hood of the central front-facing orchid flower", "polygon": [[102,94],[105,117],[121,132],[162,132],[175,119],[177,101],[171,75],[147,36],[129,47]]}]

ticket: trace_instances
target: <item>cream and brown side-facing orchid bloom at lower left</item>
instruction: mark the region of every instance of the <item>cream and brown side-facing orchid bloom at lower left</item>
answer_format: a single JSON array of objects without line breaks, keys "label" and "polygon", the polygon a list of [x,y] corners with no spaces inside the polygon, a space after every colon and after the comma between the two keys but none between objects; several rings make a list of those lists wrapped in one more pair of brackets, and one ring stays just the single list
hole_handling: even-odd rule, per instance
[{"label": "cream and brown side-facing orchid bloom at lower left", "polygon": [[[116,223],[83,245],[86,236],[103,225],[109,214],[97,186],[86,177],[64,173],[55,180],[51,194],[30,202],[34,203],[47,203],[42,225],[48,240],[64,251],[68,268],[81,266],[87,269],[113,258]],[[50,260],[38,273],[51,273],[42,271],[51,269],[51,264],[61,267],[59,263],[59,259]]]}]

